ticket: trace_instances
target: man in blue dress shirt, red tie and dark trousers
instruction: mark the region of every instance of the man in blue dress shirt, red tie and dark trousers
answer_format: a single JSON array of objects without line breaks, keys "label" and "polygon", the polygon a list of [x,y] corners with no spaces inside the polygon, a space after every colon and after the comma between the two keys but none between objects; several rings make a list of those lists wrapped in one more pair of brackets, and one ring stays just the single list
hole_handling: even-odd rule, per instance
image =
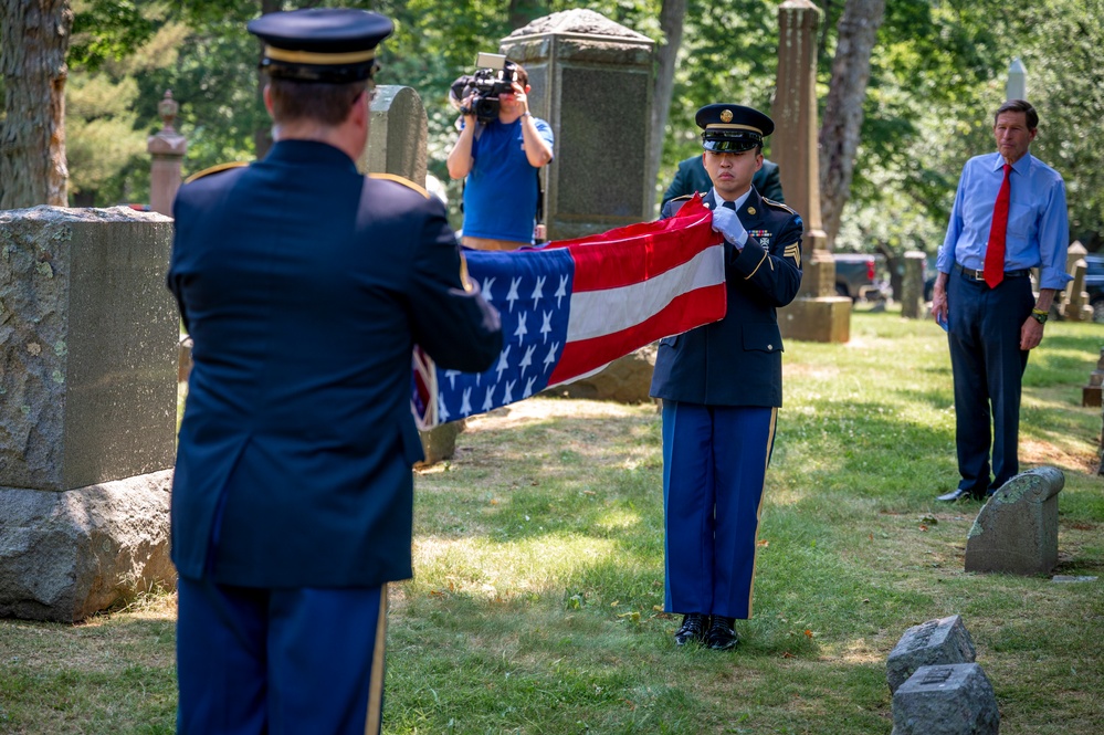
[{"label": "man in blue dress shirt, red tie and dark trousers", "polygon": [[1020,381],[1054,294],[1071,280],[1065,185],[1028,151],[1038,126],[1028,102],[1000,106],[993,116],[998,150],[963,168],[939,249],[932,314],[947,325],[950,343],[961,475],[940,501],[982,500],[1019,473]]}]

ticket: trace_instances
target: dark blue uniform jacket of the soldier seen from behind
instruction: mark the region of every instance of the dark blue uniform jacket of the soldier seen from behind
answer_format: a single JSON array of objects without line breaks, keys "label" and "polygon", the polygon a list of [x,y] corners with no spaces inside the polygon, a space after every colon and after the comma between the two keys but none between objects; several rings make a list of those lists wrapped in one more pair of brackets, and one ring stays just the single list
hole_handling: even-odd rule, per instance
[{"label": "dark blue uniform jacket of the soldier seen from behind", "polygon": [[464,288],[443,204],[285,140],[183,186],[174,214],[168,283],[194,340],[172,490],[180,575],[410,577],[411,349],[480,371],[502,344],[497,314]]}]

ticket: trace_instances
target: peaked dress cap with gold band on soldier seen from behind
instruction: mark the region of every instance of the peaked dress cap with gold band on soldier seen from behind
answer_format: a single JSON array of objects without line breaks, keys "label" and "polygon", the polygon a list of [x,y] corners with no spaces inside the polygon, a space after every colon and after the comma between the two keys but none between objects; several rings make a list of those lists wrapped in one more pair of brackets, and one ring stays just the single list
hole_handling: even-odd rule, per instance
[{"label": "peaked dress cap with gold band on soldier seen from behind", "polygon": [[395,30],[379,13],[353,8],[308,8],[267,13],[245,27],[264,42],[269,76],[343,84],[371,78],[376,46]]}]

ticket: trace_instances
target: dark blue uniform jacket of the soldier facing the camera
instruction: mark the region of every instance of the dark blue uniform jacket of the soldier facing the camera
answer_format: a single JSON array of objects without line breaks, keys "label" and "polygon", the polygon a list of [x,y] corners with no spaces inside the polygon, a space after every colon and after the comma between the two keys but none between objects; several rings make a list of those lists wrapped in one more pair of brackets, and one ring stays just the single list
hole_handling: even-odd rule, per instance
[{"label": "dark blue uniform jacket of the soldier facing the camera", "polygon": [[[663,207],[671,217],[686,198]],[[709,209],[719,203],[711,189]],[[747,244],[725,244],[725,318],[660,342],[651,395],[714,406],[782,405],[782,338],[775,309],[801,285],[801,218],[751,188],[737,211]]]}]

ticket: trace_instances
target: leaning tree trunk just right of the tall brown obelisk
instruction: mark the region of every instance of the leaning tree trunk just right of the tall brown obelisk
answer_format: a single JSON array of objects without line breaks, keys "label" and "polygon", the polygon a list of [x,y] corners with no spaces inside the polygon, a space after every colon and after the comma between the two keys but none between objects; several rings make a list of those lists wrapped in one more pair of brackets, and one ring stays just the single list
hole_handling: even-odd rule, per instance
[{"label": "leaning tree trunk just right of the tall brown obelisk", "polygon": [[832,81],[820,128],[820,212],[829,250],[840,232],[843,206],[851,197],[870,54],[884,11],[885,0],[847,0],[840,17]]}]

